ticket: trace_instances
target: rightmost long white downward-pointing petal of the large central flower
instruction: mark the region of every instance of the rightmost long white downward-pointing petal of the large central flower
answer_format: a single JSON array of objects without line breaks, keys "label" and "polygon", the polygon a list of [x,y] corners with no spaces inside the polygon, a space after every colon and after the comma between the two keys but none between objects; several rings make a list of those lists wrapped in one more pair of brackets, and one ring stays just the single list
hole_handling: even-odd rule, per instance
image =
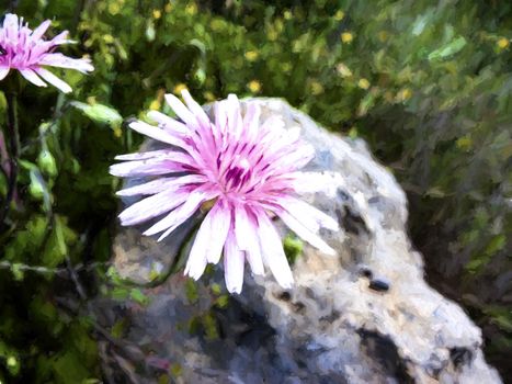
[{"label": "rightmost long white downward-pointing petal of the large central flower", "polygon": [[277,230],[263,210],[257,212],[261,253],[277,283],[289,289],[294,282]]}]

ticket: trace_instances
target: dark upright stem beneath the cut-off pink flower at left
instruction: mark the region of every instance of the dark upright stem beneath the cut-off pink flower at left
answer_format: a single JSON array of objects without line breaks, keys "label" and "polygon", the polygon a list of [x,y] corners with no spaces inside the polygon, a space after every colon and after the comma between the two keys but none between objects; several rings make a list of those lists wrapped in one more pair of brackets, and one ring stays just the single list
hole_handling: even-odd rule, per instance
[{"label": "dark upright stem beneath the cut-off pink flower at left", "polygon": [[7,92],[7,110],[8,110],[8,135],[10,142],[10,172],[9,172],[9,182],[8,182],[8,193],[5,196],[5,202],[3,208],[0,213],[0,226],[3,229],[5,226],[5,218],[9,214],[11,207],[12,199],[14,196],[14,191],[16,189],[18,181],[18,158],[20,156],[20,133],[18,129],[18,95],[16,93],[10,91]]}]

